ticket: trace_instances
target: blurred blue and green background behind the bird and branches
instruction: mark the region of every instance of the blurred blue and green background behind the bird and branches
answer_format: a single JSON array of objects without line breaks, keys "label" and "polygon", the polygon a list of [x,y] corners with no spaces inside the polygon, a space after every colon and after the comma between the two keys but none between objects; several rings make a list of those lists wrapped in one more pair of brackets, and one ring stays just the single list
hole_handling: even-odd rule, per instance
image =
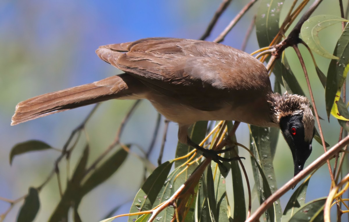
[{"label": "blurred blue and green background behind the bird and branches", "polygon": [[[215,39],[233,17],[248,1],[232,1],[222,15],[208,40]],[[292,1],[285,1],[281,22]],[[311,1],[312,2],[312,1]],[[340,9],[333,1],[324,1],[313,15],[333,14],[340,16]],[[10,126],[11,116],[18,102],[39,94],[90,83],[120,73],[119,70],[100,60],[95,54],[98,46],[133,41],[145,37],[177,37],[198,39],[206,30],[221,1],[177,0],[177,1],[43,1],[43,0],[2,0],[0,2],[0,197],[17,199],[28,192],[28,187],[38,186],[53,168],[59,152],[49,150],[16,156],[9,164],[11,148],[29,139],[43,140],[56,148],[62,148],[71,131],[86,117],[92,106],[39,118],[34,121]],[[309,4],[310,5],[310,4]],[[309,7],[309,5],[307,7]],[[242,18],[225,38],[223,44],[241,48],[242,42],[259,2]],[[347,2],[344,4],[346,8]],[[306,8],[307,8],[306,7]],[[320,32],[325,49],[333,52],[341,25],[331,26]],[[258,44],[253,31],[246,52],[257,50]],[[324,90],[317,78],[309,54],[305,55],[310,81],[314,91],[319,115],[326,118]],[[295,53],[287,49],[292,70],[305,92],[308,92],[304,74]],[[329,59],[315,55],[320,69],[326,74]],[[273,81],[272,76],[272,81]],[[307,93],[309,95],[309,93]],[[98,108],[87,124],[87,136],[80,140],[82,149],[86,140],[90,143],[91,163],[98,154],[112,143],[119,124],[133,101],[107,101]],[[126,126],[122,143],[135,143],[146,150],[149,146],[157,113],[148,101],[142,101]],[[163,133],[163,118],[159,137],[150,161],[157,166],[159,148]],[[339,125],[331,117],[330,123],[321,122],[325,140],[331,146],[337,143]],[[249,134],[246,124],[240,125],[237,138],[248,146]],[[278,186],[293,176],[291,153],[282,136],[274,160]],[[177,145],[177,125],[170,123],[163,161],[174,158]],[[141,155],[136,149],[133,152]],[[308,163],[323,153],[323,148],[313,141],[313,153]],[[71,170],[81,152],[74,152]],[[241,156],[248,156],[241,149]],[[250,158],[244,161],[248,170]],[[307,164],[308,164],[307,163]],[[307,166],[306,164],[306,166]],[[332,162],[333,166],[333,162]],[[60,164],[64,171],[65,163]],[[345,166],[347,167],[347,166]],[[61,177],[64,178],[65,172]],[[252,172],[249,171],[253,185]],[[112,208],[122,207],[116,214],[128,213],[132,200],[139,190],[143,176],[143,164],[134,155],[129,155],[121,169],[103,185],[89,193],[79,207],[83,221],[99,221]],[[327,166],[323,166],[310,180],[306,201],[327,196],[330,186]],[[63,184],[64,185],[64,184]],[[292,191],[281,199],[284,208]],[[46,221],[59,201],[57,177],[40,192],[40,210],[36,221]],[[21,204],[17,204],[5,221],[14,221]],[[0,201],[0,214],[9,207]],[[116,221],[126,221],[127,218]]]}]

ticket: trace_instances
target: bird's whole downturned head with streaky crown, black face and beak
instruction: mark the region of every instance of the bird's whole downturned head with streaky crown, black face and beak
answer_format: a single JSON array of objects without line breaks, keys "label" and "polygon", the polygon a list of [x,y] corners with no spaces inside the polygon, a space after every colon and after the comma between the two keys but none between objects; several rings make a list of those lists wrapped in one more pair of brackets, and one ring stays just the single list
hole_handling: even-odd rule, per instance
[{"label": "bird's whole downturned head with streaky crown, black face and beak", "polygon": [[309,158],[314,137],[314,116],[309,100],[301,95],[273,95],[272,117],[278,123],[293,156],[295,176]]}]

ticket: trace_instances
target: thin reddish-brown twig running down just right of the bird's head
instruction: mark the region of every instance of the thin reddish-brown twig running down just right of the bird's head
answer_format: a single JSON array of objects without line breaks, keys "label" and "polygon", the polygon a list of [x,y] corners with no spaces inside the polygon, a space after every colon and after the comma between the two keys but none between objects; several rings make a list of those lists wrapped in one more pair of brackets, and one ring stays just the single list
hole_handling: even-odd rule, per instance
[{"label": "thin reddish-brown twig running down just right of the bird's head", "polygon": [[[313,91],[311,90],[311,86],[310,86],[308,72],[306,70],[306,67],[305,67],[305,64],[304,64],[304,60],[303,60],[302,54],[300,54],[298,46],[294,45],[293,48],[295,49],[296,54],[297,54],[298,59],[299,59],[299,62],[301,64],[302,68],[303,68],[303,72],[304,72],[304,76],[305,76],[305,79],[306,79],[306,82],[307,82],[307,85],[308,85],[308,89],[309,89],[310,98],[311,98],[311,102],[312,102],[312,105],[313,105],[316,121],[318,122],[318,127],[319,127],[319,133],[320,133],[320,137],[321,137],[322,146],[324,146],[324,151],[327,152],[326,143],[325,143],[325,139],[324,139],[324,134],[322,133],[322,128],[321,128],[321,124],[320,124],[320,118],[319,118],[318,110],[316,109]],[[332,172],[332,167],[331,167],[331,163],[329,162],[329,160],[327,160],[327,166],[328,166],[328,170],[329,170],[329,175],[331,176],[331,180],[332,180],[332,182],[334,182],[334,176],[333,176],[333,172]]]}]

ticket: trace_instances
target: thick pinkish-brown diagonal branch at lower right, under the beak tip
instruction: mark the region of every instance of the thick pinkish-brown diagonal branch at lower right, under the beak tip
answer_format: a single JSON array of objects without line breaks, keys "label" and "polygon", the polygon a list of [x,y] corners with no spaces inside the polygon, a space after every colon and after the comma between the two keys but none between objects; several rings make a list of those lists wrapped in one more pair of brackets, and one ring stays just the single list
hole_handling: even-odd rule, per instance
[{"label": "thick pinkish-brown diagonal branch at lower right, under the beak tip", "polygon": [[326,153],[319,156],[318,159],[313,161],[306,167],[304,170],[300,171],[295,177],[290,179],[287,183],[285,183],[279,190],[275,191],[270,197],[268,197],[259,208],[252,214],[250,218],[246,220],[246,222],[254,222],[258,221],[259,217],[265,212],[274,201],[279,199],[283,194],[285,194],[288,190],[290,190],[294,185],[296,185],[299,181],[309,175],[313,170],[322,166],[327,160],[331,159],[333,155],[341,150],[344,146],[349,143],[349,136],[345,137],[339,143],[334,145],[331,149],[329,149]]}]

